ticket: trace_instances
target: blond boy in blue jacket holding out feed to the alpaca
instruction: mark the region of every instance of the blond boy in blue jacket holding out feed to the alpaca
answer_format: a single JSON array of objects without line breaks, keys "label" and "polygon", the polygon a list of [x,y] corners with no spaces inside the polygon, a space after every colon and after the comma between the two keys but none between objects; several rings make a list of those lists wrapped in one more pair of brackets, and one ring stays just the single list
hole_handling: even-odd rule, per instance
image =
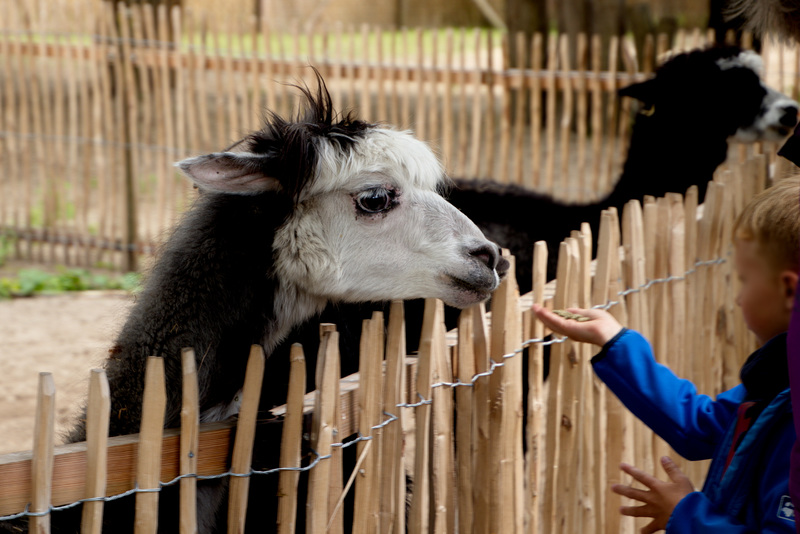
[{"label": "blond boy in blue jacket holding out feed to the alpaca", "polygon": [[[589,317],[564,319],[536,307],[553,331],[602,347],[592,366],[639,419],[690,459],[712,458],[702,491],[669,458],[662,482],[635,467],[624,472],[647,490],[614,485],[641,501],[620,512],[653,520],[649,534],[691,532],[794,532],[789,499],[789,452],[795,441],[786,363],[786,330],[797,287],[800,252],[798,178],[756,196],[734,228],[735,266],[741,280],[736,303],[761,348],[745,362],[742,384],[715,400],[698,395],[688,380],[655,362],[647,340],[601,310],[571,309]],[[695,357],[702,357],[696,355]]]}]

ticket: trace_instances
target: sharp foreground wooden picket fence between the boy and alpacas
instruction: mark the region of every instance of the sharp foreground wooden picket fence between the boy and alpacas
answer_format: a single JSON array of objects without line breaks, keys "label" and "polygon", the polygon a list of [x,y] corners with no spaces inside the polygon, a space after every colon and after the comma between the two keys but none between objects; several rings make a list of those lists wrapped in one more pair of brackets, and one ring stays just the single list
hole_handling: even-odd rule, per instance
[{"label": "sharp foreground wooden picket fence between the boy and alpacas", "polygon": [[[386,330],[378,313],[365,323],[357,376],[340,380],[336,327],[322,325],[316,391],[304,395],[304,354],[297,345],[287,404],[274,411],[283,418],[280,465],[288,470],[263,476],[280,477],[279,532],[294,532],[300,468],[308,471],[309,504],[299,513],[309,533],[351,527],[419,534],[633,533],[635,521],[618,513],[620,497],[609,491],[620,482],[619,463],[656,473],[656,458],[677,455],[593,376],[592,347],[553,343],[549,377],[542,380],[547,332],[531,304],[606,306],[700,392],[716,395],[733,387],[756,342],[734,304],[732,224],[766,186],[764,162],[765,156],[756,156],[720,170],[701,215],[694,187],[685,197],[631,201],[621,222],[616,211],[603,213],[594,260],[584,223],[561,244],[557,278],[550,283],[547,249],[537,243],[533,291],[520,297],[515,280],[506,279],[491,314],[482,306],[467,309],[456,331],[445,332],[441,303],[428,301],[416,357],[406,355],[399,302]],[[54,385],[42,374],[33,451],[0,457],[0,516],[27,510],[34,514],[31,526],[47,532],[53,506],[138,488],[139,532],[154,532],[158,493],[147,490],[177,479],[182,500],[175,513],[191,532],[194,475],[252,474],[264,355],[253,347],[235,428],[198,425],[194,355],[187,350],[183,358],[180,430],[162,430],[163,365],[151,358],[140,435],[106,437],[108,386],[103,372],[94,370],[89,439],[56,447]],[[304,414],[311,418],[308,436]],[[359,435],[358,461],[352,473],[343,473],[339,440],[353,434]],[[305,439],[315,456],[301,460]],[[680,465],[695,485],[702,483],[706,462]],[[406,473],[413,476],[410,495]],[[230,478],[229,532],[243,530],[248,483],[248,477]],[[352,526],[342,519],[348,492],[355,492]],[[102,499],[84,507],[84,532],[98,531],[102,510]]]}]

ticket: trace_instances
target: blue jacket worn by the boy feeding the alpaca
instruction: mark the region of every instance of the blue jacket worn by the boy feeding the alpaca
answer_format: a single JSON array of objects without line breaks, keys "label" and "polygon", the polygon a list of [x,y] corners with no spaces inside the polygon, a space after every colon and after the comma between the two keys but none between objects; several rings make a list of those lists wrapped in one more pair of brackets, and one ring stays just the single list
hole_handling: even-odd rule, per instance
[{"label": "blue jacket worn by the boy feeding the alpaca", "polygon": [[[778,350],[785,355],[785,343]],[[795,431],[788,388],[766,404],[726,469],[737,410],[752,397],[744,385],[716,400],[698,395],[694,384],[655,361],[644,337],[627,329],[603,347],[592,365],[622,403],[681,456],[712,459],[702,492],[690,493],[678,503],[668,533],[795,532],[789,499],[789,453]]]}]

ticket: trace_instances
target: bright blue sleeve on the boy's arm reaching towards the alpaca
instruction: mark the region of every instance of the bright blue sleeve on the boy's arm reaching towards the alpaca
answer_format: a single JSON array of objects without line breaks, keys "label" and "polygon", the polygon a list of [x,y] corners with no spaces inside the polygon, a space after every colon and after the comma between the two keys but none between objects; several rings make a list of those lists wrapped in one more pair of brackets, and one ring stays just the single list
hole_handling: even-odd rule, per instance
[{"label": "bright blue sleeve on the boy's arm reaching towards the alpaca", "polygon": [[641,334],[628,329],[606,343],[592,366],[626,408],[689,460],[711,458],[745,394],[739,385],[716,400],[699,395],[694,384],[655,361]]}]

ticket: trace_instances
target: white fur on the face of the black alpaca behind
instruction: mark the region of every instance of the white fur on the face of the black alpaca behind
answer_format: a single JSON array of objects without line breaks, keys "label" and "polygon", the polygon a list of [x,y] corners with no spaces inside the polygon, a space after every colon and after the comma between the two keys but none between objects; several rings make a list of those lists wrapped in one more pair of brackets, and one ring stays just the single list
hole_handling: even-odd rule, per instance
[{"label": "white fur on the face of the black alpaca behind", "polygon": [[[761,56],[753,51],[747,50],[733,58],[721,59],[717,65],[722,70],[734,67],[747,67],[755,72],[759,79],[763,72],[763,62]],[[761,113],[753,121],[753,124],[745,128],[739,128],[731,140],[740,143],[754,143],[756,141],[781,141],[791,129],[785,124],[781,124],[781,118],[788,110],[798,109],[798,104],[788,96],[779,93],[775,89],[764,84],[761,86],[767,92],[761,104]]]}]

